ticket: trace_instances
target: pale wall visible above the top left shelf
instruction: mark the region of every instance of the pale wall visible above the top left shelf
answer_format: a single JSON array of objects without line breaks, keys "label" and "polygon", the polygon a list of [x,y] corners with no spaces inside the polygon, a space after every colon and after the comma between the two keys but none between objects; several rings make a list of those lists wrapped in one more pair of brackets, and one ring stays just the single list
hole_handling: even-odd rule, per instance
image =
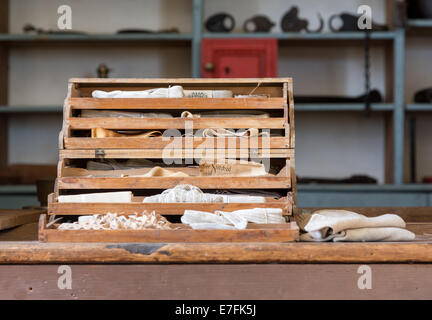
[{"label": "pale wall visible above the top left shelf", "polygon": [[72,8],[72,28],[114,33],[122,28],[150,30],[177,27],[192,32],[191,0],[19,0],[10,1],[10,32],[21,33],[26,23],[57,29],[57,8]]}]

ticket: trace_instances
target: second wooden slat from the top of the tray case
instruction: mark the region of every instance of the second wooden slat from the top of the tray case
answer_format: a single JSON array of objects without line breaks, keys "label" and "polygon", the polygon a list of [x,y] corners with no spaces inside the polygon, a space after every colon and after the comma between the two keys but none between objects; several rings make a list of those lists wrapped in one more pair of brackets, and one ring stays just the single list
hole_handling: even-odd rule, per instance
[{"label": "second wooden slat from the top of the tray case", "polygon": [[[70,118],[71,129],[206,129],[206,128],[285,128],[284,118]],[[187,125],[187,127],[186,127]]]}]

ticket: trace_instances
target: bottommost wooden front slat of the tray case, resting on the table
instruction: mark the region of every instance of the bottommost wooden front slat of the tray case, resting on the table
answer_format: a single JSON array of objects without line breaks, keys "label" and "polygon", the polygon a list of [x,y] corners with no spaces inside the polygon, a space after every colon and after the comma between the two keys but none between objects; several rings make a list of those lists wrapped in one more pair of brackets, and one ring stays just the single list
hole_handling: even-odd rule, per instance
[{"label": "bottommost wooden front slat of the tray case, resting on the table", "polygon": [[57,230],[44,227],[45,215],[39,223],[41,242],[289,242],[299,232],[295,223],[250,223],[245,230],[193,230],[183,224],[174,224],[175,230]]}]

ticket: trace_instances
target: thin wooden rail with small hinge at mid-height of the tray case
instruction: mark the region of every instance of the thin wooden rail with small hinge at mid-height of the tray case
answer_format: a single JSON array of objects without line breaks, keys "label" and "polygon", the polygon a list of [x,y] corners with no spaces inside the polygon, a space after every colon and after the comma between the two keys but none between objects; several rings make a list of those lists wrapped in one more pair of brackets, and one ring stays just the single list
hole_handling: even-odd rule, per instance
[{"label": "thin wooden rail with small hinge at mid-height of the tray case", "polygon": [[[224,159],[224,158],[290,158],[292,149],[104,149],[103,158],[111,159]],[[98,158],[95,150],[60,150],[61,159]]]}]

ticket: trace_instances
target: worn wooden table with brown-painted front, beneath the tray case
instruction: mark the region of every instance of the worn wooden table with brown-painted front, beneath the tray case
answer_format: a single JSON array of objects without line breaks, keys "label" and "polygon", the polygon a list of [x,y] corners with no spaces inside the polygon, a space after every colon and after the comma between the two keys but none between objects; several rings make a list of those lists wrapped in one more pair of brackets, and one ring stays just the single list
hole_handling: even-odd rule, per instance
[{"label": "worn wooden table with brown-painted front, beneath the tray case", "polygon": [[[15,239],[0,242],[0,299],[431,299],[432,223],[425,221],[432,208],[356,211],[397,212],[410,221],[417,239],[282,244]],[[59,269],[63,265],[71,271],[72,289],[58,287],[66,275]],[[369,270],[372,289],[360,289]]]}]

